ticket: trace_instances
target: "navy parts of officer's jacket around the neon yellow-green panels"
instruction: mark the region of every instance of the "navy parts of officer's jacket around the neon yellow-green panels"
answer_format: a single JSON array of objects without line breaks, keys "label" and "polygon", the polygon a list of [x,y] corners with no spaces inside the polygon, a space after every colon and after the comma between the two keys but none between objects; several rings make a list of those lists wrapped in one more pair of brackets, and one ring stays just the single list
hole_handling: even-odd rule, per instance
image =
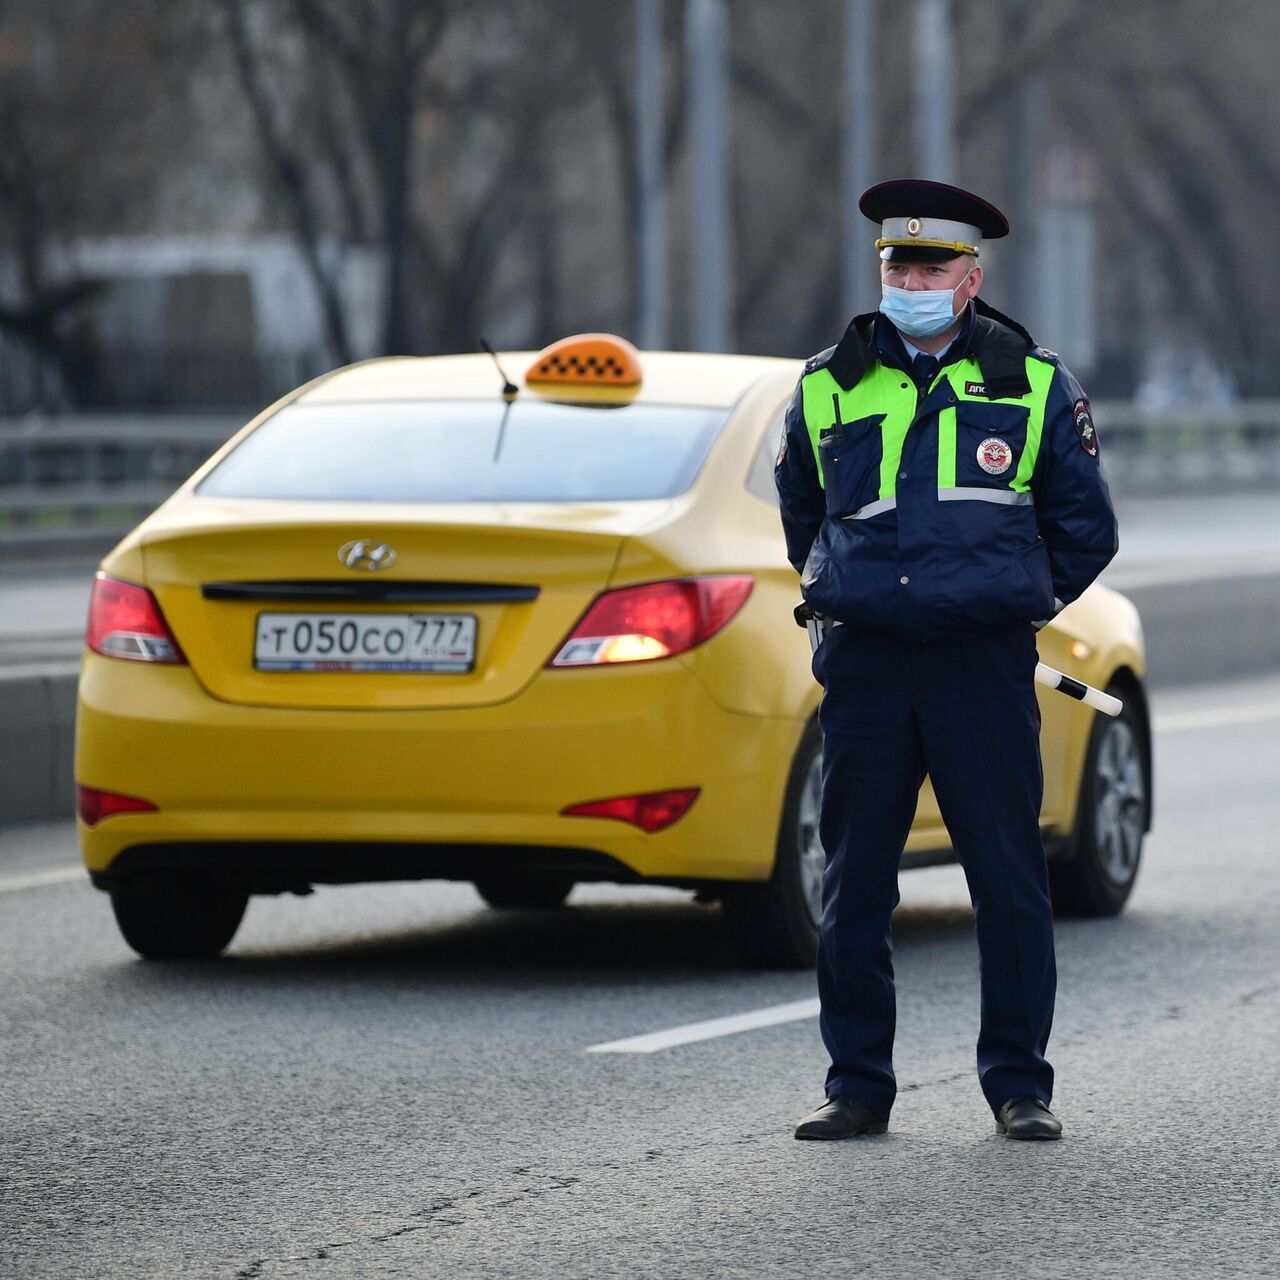
[{"label": "navy parts of officer's jacket around the neon yellow-green panels", "polygon": [[[918,389],[896,497],[882,512],[877,508],[884,503],[869,503],[873,494],[864,484],[879,475],[881,435],[868,429],[876,419],[808,424],[801,387],[805,375],[827,369],[841,389],[852,390],[873,362],[913,379],[897,330],[878,312],[859,316],[837,346],[806,362],[787,410],[774,479],[787,556],[815,612],[908,640],[933,640],[1041,622],[1070,604],[1107,566],[1117,547],[1116,520],[1098,463],[1097,433],[1079,383],[1057,356],[977,302],[943,355],[942,369],[973,358],[983,374],[982,383],[973,384],[975,394],[984,387],[983,394],[992,398],[1018,397],[1029,392],[1028,357],[1052,366],[1052,381],[1030,492],[1019,504],[1002,504],[988,492],[1007,492],[1007,476],[988,475],[975,456],[982,453],[979,438],[989,435],[1012,445],[1016,466],[1019,410],[1007,402],[966,401],[960,408],[959,488],[946,495],[988,500],[940,500],[938,415],[957,404],[943,376],[932,389]],[[1020,412],[1025,433],[1027,412]],[[828,457],[828,445],[840,456]],[[823,449],[826,488],[815,447]],[[1009,466],[997,451],[997,465],[1001,461]]]}]

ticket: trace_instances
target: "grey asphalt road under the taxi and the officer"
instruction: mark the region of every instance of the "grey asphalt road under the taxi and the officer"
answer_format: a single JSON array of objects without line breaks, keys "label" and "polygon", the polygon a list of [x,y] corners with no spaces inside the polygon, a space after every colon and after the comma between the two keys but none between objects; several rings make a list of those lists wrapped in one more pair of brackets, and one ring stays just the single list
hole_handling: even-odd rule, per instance
[{"label": "grey asphalt road under the taxi and the officer", "polygon": [[813,996],[685,895],[320,890],[143,964],[69,826],[0,832],[0,1275],[1275,1276],[1280,678],[1156,709],[1130,908],[1059,927],[1056,1144],[984,1110],[952,868],[902,881],[890,1133],[797,1143],[812,1019],[586,1052]]}]

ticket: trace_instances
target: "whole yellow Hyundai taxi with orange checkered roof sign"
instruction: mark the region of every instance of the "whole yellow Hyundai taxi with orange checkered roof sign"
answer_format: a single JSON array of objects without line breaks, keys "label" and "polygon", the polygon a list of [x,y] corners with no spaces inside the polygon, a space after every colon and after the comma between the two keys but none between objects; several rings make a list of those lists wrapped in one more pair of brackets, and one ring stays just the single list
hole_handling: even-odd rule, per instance
[{"label": "whole yellow Hyundai taxi with orange checkered roof sign", "polygon": [[[251,421],[95,581],[78,826],[128,943],[216,955],[250,895],[315,883],[611,881],[812,961],[820,690],[772,480],[799,371],[586,334],[355,365]],[[1055,904],[1114,913],[1149,824],[1138,617],[1094,586],[1039,644],[1125,700],[1041,696]],[[948,856],[925,785],[904,865]]]}]

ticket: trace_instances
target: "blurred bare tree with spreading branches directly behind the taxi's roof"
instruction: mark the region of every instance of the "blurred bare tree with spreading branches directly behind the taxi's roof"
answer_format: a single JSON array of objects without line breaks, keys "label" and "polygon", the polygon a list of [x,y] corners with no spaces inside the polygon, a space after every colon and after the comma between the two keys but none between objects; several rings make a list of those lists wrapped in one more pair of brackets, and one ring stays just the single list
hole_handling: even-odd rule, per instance
[{"label": "blurred bare tree with spreading branches directly behind the taxi's roof", "polygon": [[[548,129],[588,49],[564,12],[477,0],[219,0],[234,69],[339,358],[320,234],[379,247],[379,349],[474,349],[503,247],[552,252]],[[287,73],[285,73],[287,69]],[[522,218],[521,212],[527,216]],[[543,252],[536,244],[543,244]],[[540,270],[554,308],[557,271]]]}]

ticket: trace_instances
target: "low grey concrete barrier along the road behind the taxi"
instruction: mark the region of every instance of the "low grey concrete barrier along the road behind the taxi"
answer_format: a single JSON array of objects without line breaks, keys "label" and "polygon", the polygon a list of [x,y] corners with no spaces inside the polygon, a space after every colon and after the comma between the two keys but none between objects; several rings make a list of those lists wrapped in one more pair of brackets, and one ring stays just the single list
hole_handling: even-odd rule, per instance
[{"label": "low grey concrete barrier along the road behind the taxi", "polygon": [[[1142,617],[1152,689],[1280,671],[1280,571],[1116,586]],[[0,826],[74,812],[77,676],[0,668]]]}]

